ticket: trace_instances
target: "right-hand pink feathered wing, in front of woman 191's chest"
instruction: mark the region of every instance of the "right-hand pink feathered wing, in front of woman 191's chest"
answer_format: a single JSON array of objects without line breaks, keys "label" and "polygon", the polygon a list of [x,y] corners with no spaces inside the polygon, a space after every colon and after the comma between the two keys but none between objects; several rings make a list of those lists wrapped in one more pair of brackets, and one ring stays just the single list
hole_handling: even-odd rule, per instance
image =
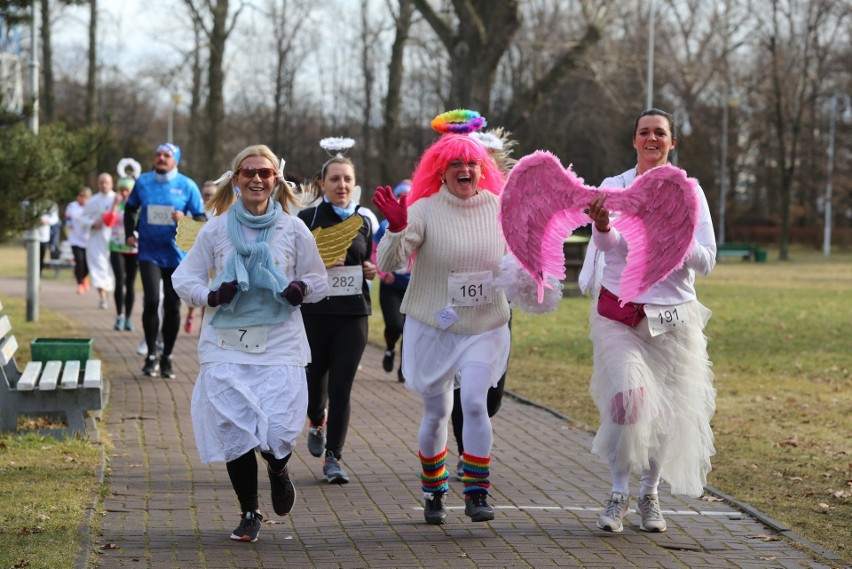
[{"label": "right-hand pink feathered wing, in front of woman 191's chest", "polygon": [[683,265],[698,225],[698,182],[675,166],[660,166],[625,189],[601,188],[605,205],[627,241],[627,266],[619,281],[622,303],[642,296]]}]

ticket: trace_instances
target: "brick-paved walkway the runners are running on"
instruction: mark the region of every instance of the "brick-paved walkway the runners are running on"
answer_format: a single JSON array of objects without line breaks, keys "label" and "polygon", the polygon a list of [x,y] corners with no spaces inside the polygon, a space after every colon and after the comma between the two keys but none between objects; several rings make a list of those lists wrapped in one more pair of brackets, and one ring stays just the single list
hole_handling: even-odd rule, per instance
[{"label": "brick-paved walkway the runners are running on", "polygon": [[[0,279],[0,290],[23,296],[24,282]],[[94,338],[109,380],[101,425],[112,443],[108,490],[89,560],[99,567],[830,566],[725,502],[674,497],[665,486],[660,500],[667,532],[639,531],[633,511],[623,533],[598,530],[609,476],[589,451],[591,434],[508,397],[494,419],[490,502],[496,519],[471,523],[461,483],[453,478],[448,523],[427,525],[416,451],[418,398],[381,369],[382,353],[373,347],[352,393],[343,457],[351,483],[325,483],[322,460],[300,444],[290,463],[298,490],[292,515],[272,514],[262,475],[260,503],[268,523],[257,543],[236,543],[228,539],[239,513],[225,466],[202,464],[195,449],[189,402],[198,372],[197,332],[181,331],[178,338],[177,379],[152,379],[142,375],[136,355],[141,331],[113,331],[114,310],[98,310],[92,292],[77,296],[67,281],[43,280],[41,306],[68,315]],[[448,463],[455,465],[450,448]]]}]

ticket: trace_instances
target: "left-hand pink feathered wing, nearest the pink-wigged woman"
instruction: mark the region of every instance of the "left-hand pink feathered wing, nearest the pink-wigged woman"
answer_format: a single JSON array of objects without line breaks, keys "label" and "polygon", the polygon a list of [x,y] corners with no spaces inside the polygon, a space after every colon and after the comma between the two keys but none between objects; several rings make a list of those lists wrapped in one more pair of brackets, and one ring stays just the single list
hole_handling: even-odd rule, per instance
[{"label": "left-hand pink feathered wing, nearest the pink-wigged woman", "polygon": [[539,150],[521,158],[500,193],[500,223],[509,251],[538,284],[544,298],[547,276],[565,278],[565,238],[591,222],[583,213],[596,195],[570,167]]}]

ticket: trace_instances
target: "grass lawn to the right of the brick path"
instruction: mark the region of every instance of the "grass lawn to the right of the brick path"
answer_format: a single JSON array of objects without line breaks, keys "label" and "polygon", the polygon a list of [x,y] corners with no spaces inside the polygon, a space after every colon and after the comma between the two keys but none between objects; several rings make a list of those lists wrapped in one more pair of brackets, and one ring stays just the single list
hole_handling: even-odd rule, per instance
[{"label": "grass lawn to the right of the brick path", "polygon": [[[718,391],[708,483],[852,563],[852,252],[777,256],[725,260],[697,279]],[[516,310],[506,386],[593,430],[589,304]],[[373,306],[370,340],[383,346]]]}]

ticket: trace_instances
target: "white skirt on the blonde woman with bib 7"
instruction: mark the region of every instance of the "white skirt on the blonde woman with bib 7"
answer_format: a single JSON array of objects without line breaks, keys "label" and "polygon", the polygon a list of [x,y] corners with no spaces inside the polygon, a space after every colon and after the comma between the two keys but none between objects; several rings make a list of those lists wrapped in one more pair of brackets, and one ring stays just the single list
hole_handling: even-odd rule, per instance
[{"label": "white skirt on the blonde woman with bib 7", "polygon": [[201,462],[230,462],[252,449],[284,458],[305,426],[305,368],[202,364],[190,410]]}]

